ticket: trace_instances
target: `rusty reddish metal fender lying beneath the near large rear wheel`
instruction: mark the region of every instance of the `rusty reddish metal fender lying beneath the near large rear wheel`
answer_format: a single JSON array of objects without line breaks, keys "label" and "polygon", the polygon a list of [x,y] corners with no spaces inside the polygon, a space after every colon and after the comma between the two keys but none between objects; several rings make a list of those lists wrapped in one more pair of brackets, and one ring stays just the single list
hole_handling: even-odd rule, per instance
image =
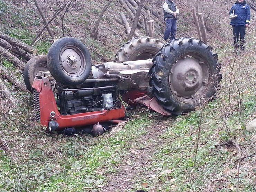
[{"label": "rusty reddish metal fender lying beneath the near large rear wheel", "polygon": [[171,116],[172,113],[166,111],[162,106],[160,106],[155,97],[149,97],[148,95],[136,98],[133,101],[147,106],[149,109],[156,111],[164,116]]}]

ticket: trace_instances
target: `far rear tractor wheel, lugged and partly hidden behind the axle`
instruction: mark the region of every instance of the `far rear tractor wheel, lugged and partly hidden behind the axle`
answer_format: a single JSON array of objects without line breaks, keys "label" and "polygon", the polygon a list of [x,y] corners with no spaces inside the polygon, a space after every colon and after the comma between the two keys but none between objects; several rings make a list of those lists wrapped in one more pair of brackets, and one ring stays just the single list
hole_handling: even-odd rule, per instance
[{"label": "far rear tractor wheel, lugged and partly hidden behind the axle", "polygon": [[160,40],[152,37],[136,37],[120,48],[114,62],[122,63],[153,58],[163,45]]}]

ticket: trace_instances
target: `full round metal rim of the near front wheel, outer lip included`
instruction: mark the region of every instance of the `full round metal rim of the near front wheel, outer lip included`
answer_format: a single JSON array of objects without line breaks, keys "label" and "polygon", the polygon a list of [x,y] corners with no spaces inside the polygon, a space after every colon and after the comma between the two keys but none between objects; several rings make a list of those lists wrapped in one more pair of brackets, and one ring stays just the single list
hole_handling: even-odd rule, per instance
[{"label": "full round metal rim of the near front wheel, outer lip included", "polygon": [[72,77],[77,77],[83,74],[86,67],[83,52],[73,45],[68,45],[61,49],[60,63],[63,71]]}]

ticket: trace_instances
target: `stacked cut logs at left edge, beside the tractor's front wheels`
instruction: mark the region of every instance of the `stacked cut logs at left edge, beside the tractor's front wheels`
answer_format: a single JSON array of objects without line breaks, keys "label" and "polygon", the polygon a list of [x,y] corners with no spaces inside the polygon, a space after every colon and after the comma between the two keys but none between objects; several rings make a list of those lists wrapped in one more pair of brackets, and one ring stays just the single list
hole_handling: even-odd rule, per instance
[{"label": "stacked cut logs at left edge, beside the tractor's front wheels", "polygon": [[[37,50],[20,40],[8,36],[0,31],[0,58],[7,59],[12,62],[20,71],[24,70],[25,62],[35,55]],[[22,91],[27,91],[24,82],[18,80],[12,71],[8,70],[0,60],[0,94],[3,95],[10,104],[15,104],[16,101],[10,91],[4,85],[4,81],[11,82],[14,87]]]}]

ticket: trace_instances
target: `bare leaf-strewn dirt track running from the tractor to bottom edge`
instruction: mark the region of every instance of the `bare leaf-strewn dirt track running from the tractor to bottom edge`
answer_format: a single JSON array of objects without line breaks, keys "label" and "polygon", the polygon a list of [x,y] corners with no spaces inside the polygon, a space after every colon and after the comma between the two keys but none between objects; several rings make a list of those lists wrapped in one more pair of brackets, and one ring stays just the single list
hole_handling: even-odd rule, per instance
[{"label": "bare leaf-strewn dirt track running from the tractor to bottom edge", "polygon": [[[153,153],[165,143],[165,140],[160,139],[159,136],[165,133],[171,123],[170,120],[172,121],[172,118],[167,121],[154,120],[150,126],[146,127],[145,135],[130,141],[129,155],[124,157],[123,164],[117,167],[117,173],[107,176],[108,183],[102,192],[121,192],[124,189],[132,189],[135,188],[139,177],[149,179],[155,176],[154,170],[147,170],[147,167],[152,164]],[[147,183],[141,183],[141,185],[146,187]]]}]

